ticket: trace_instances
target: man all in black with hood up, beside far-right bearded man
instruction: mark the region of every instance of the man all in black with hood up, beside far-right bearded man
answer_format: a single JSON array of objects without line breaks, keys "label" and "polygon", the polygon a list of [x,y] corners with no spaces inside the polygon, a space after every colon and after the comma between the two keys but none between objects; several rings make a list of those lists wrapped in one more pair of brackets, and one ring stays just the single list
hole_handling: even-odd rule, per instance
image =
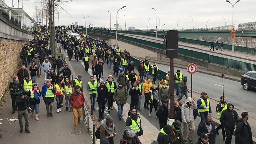
[{"label": "man all in black with hood up, beside far-right bearded man", "polygon": [[234,110],[234,105],[228,103],[228,109],[224,110],[221,113],[221,124],[225,131],[225,138],[223,141],[225,144],[231,144],[232,135],[234,133],[234,129],[236,126],[236,119],[238,118],[238,114]]}]

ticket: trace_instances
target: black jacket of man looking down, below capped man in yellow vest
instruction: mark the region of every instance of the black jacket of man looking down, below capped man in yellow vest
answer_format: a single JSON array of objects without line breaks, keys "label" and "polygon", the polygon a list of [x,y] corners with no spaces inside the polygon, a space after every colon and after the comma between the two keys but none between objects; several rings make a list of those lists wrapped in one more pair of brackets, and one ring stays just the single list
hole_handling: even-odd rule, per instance
[{"label": "black jacket of man looking down, below capped man in yellow vest", "polygon": [[[202,133],[209,133],[207,127],[205,126],[205,121],[201,122],[198,126],[197,129],[197,135],[200,137]],[[216,129],[214,124],[211,122],[211,133],[212,135],[209,135],[209,143],[210,144],[215,144],[215,139],[216,139]]]}]

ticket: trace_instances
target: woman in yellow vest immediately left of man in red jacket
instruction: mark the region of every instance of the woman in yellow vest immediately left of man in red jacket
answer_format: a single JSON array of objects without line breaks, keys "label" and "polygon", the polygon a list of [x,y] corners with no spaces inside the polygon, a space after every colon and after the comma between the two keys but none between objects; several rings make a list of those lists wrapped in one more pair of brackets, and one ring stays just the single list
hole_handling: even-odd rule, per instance
[{"label": "woman in yellow vest immediately left of man in red jacket", "polygon": [[66,100],[66,111],[68,111],[68,108],[70,106],[70,103],[69,103],[69,97],[70,95],[72,94],[72,92],[74,92],[74,87],[72,85],[72,83],[70,82],[69,78],[65,78],[65,87],[64,87],[64,90],[65,92],[64,93],[64,98]]}]

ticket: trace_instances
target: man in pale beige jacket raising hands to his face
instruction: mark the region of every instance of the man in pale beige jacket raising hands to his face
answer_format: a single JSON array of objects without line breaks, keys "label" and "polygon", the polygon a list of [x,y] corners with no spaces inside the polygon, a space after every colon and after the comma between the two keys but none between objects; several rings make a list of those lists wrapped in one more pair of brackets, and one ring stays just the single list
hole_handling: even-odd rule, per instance
[{"label": "man in pale beige jacket raising hands to his face", "polygon": [[[193,109],[197,109],[197,103],[195,102],[195,100],[193,100],[193,98],[188,97],[185,103],[181,107],[181,117],[182,117],[182,122],[184,123],[184,131],[182,136],[185,143],[187,143],[187,140],[189,140],[190,143],[193,143],[192,137],[195,131]],[[187,137],[188,129],[189,129],[189,133]],[[187,137],[187,140],[186,140],[186,137]]]}]

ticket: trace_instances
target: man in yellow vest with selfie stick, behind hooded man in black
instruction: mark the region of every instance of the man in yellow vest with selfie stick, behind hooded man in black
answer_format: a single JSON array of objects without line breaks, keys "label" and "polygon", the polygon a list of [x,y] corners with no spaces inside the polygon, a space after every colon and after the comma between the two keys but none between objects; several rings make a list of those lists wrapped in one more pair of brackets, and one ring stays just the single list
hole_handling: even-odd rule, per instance
[{"label": "man in yellow vest with selfie stick, behind hooded man in black", "polygon": [[[219,101],[219,103],[217,103],[217,118],[221,118],[221,113],[227,109],[228,103],[226,103],[226,98],[225,96],[221,96],[221,100]],[[222,128],[222,124],[219,125],[217,128],[216,128],[216,134],[219,135],[219,129],[222,129],[222,135],[223,135],[223,138],[225,138],[225,131],[224,131],[224,128]]]}]

